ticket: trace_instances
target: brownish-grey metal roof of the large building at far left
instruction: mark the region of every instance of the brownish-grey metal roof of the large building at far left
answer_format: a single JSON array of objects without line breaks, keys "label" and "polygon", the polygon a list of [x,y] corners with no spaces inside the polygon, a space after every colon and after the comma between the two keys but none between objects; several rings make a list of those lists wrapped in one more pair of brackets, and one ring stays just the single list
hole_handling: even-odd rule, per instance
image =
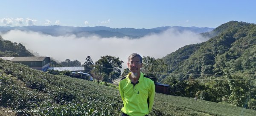
[{"label": "brownish-grey metal roof of the large building at far left", "polygon": [[10,61],[43,61],[46,57],[14,57]]}]

